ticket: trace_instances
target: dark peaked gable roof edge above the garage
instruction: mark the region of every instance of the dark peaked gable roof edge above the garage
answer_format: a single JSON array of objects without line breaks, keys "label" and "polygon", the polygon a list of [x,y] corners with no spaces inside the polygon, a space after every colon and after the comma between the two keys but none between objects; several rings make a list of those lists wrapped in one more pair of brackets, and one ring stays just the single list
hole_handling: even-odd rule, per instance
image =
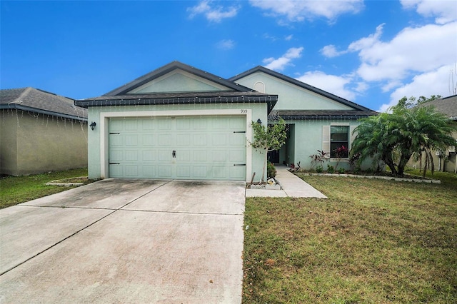
[{"label": "dark peaked gable roof edge above the garage", "polygon": [[239,91],[239,92],[253,91],[250,88],[241,86],[238,83],[234,83],[233,81],[228,81],[228,80],[221,78],[219,76],[216,76],[214,74],[210,74],[206,71],[202,71],[202,70],[196,69],[192,66],[188,66],[187,64],[183,64],[179,61],[173,61],[170,64],[166,64],[165,66],[162,66],[159,69],[156,69],[154,71],[149,72],[146,75],[136,78],[134,81],[124,84],[124,86],[115,88],[113,91],[110,91],[110,92],[104,94],[104,96],[126,95],[130,91],[134,90],[135,88],[139,88],[140,86],[143,86],[144,84],[146,84],[150,81],[154,81],[154,79],[164,76],[176,69],[186,71],[190,74],[194,74],[195,76],[199,76],[199,77],[204,78],[213,83],[217,83],[217,84],[219,84],[219,86],[225,86],[226,88],[229,88],[229,90],[227,90],[227,91]]}]

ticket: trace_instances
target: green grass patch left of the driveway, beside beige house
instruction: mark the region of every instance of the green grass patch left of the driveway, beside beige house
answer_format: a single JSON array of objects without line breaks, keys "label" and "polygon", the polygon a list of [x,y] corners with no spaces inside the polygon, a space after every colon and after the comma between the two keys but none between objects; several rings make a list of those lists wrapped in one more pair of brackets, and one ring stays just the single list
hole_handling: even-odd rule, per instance
[{"label": "green grass patch left of the driveway, beside beige house", "polygon": [[[31,176],[7,176],[0,178],[0,208],[14,206],[35,198],[66,191],[70,187],[46,186],[50,181],[87,176],[87,168],[49,172]],[[74,188],[74,187],[71,187]]]}]

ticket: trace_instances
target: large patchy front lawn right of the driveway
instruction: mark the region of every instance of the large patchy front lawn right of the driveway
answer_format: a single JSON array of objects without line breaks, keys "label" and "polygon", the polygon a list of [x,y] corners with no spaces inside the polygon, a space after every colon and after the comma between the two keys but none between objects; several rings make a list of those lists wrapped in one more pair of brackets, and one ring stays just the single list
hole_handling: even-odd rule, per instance
[{"label": "large patchy front lawn right of the driveway", "polygon": [[246,198],[243,303],[457,303],[455,174],[301,178],[328,200]]}]

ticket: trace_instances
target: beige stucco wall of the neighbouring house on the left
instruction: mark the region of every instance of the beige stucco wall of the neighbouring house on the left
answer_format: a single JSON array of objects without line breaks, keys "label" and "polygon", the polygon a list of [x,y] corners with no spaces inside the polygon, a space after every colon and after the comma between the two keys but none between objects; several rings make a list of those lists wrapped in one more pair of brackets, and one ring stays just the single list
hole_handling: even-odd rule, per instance
[{"label": "beige stucco wall of the neighbouring house on the left", "polygon": [[87,123],[26,111],[1,114],[1,174],[87,166]]}]

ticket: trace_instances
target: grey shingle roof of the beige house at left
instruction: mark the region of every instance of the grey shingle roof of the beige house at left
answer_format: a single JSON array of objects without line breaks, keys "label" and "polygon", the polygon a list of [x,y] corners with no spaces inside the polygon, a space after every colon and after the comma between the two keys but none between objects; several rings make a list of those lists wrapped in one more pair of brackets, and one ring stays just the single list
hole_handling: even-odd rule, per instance
[{"label": "grey shingle roof of the beige house at left", "polygon": [[87,121],[87,110],[75,106],[73,99],[31,87],[0,90],[0,108]]}]

